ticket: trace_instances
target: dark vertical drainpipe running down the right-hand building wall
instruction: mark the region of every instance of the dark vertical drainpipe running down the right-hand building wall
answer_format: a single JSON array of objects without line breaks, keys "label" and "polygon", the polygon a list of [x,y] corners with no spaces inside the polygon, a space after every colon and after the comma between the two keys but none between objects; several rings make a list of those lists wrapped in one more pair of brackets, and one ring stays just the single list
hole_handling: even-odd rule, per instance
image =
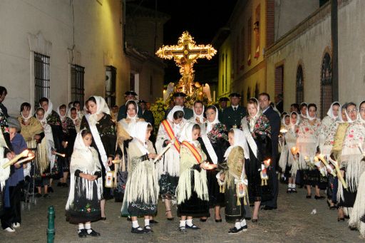
[{"label": "dark vertical drainpipe running down the right-hand building wall", "polygon": [[337,0],[331,0],[332,101],[339,100],[339,29]]}]

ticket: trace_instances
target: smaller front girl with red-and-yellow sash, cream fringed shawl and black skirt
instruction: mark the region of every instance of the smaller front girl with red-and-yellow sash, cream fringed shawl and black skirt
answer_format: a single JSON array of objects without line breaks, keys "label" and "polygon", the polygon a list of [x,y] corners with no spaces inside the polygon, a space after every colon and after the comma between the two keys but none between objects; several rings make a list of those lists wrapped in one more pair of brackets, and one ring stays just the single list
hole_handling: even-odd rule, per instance
[{"label": "smaller front girl with red-and-yellow sash, cream fringed shawl and black skirt", "polygon": [[209,215],[205,169],[210,165],[205,162],[207,157],[197,141],[199,135],[200,126],[197,123],[185,124],[180,146],[180,177],[176,189],[180,232],[185,232],[186,229],[200,229],[192,223],[192,217]]}]

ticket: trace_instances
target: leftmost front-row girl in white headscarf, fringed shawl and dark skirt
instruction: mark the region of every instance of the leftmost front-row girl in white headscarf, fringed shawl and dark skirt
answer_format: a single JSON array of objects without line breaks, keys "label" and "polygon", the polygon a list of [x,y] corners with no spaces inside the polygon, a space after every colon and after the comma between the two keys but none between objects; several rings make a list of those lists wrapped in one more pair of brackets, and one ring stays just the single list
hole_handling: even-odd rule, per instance
[{"label": "leftmost front-row girl in white headscarf, fringed shawl and dark skirt", "polygon": [[88,130],[77,134],[71,156],[71,184],[66,202],[66,220],[78,224],[78,236],[98,237],[91,222],[101,219],[103,180],[98,152],[91,147],[93,136]]}]

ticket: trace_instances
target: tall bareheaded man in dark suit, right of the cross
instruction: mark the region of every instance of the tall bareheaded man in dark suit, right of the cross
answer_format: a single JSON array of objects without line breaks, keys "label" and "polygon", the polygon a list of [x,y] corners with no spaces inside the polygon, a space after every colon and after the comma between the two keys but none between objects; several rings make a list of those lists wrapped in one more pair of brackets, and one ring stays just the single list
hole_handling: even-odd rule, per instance
[{"label": "tall bareheaded man in dark suit, right of the cross", "polygon": [[277,163],[277,145],[279,143],[279,132],[280,132],[280,117],[279,114],[270,106],[270,95],[268,93],[259,94],[259,107],[262,113],[269,119],[271,127],[271,141],[272,141],[272,167],[270,170],[269,180],[272,183],[272,200],[263,202],[263,210],[275,210],[277,209],[277,194],[278,194],[278,181],[276,173]]}]

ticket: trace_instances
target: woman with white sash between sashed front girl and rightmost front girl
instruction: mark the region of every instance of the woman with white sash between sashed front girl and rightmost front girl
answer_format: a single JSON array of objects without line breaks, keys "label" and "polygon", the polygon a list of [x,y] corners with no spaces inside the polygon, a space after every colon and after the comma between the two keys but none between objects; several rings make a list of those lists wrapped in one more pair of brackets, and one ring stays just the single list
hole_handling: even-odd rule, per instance
[{"label": "woman with white sash between sashed front girl and rightmost front girl", "polygon": [[[207,155],[207,161],[216,168],[225,161],[225,150],[229,147],[228,132],[226,126],[220,123],[218,110],[214,105],[207,107],[205,115],[207,115],[207,122],[199,141],[202,145],[202,150]],[[207,170],[209,205],[210,208],[215,209],[215,222],[222,222],[220,207],[225,205],[225,194],[220,192],[216,176],[217,170]],[[206,218],[203,217],[201,221],[205,222]]]}]

